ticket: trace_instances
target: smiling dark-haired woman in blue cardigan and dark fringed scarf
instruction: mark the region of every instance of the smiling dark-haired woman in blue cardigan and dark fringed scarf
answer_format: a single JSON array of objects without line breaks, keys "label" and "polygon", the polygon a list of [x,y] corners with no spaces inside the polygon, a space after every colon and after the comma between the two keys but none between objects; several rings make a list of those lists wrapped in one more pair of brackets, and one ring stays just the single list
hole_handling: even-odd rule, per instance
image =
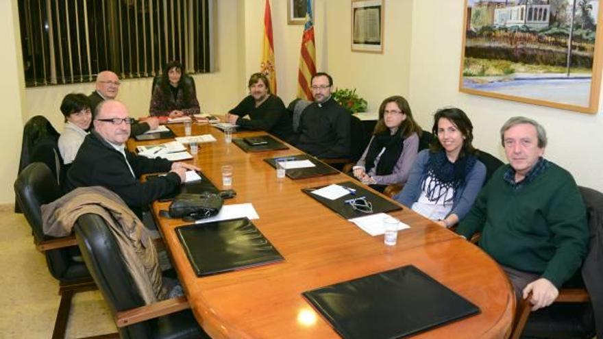
[{"label": "smiling dark-haired woman in blue cardigan and dark fringed scarf", "polygon": [[444,227],[463,219],[476,199],[486,166],[471,145],[473,125],[458,108],[443,108],[434,115],[438,140],[419,152],[410,177],[395,199]]}]

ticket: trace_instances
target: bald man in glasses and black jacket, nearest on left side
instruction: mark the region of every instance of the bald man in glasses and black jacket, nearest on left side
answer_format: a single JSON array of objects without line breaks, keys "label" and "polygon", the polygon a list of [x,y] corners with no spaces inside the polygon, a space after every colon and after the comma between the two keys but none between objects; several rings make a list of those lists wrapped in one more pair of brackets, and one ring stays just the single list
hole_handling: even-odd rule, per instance
[{"label": "bald man in glasses and black jacket, nearest on left side", "polygon": [[[104,186],[119,195],[142,218],[143,209],[173,193],[184,182],[187,169],[199,171],[199,168],[163,158],[149,159],[127,151],[125,142],[130,137],[133,122],[123,103],[116,100],[100,103],[93,121],[94,130],[84,139],[67,172],[66,189]],[[168,173],[140,181],[141,175],[163,172]]]}]

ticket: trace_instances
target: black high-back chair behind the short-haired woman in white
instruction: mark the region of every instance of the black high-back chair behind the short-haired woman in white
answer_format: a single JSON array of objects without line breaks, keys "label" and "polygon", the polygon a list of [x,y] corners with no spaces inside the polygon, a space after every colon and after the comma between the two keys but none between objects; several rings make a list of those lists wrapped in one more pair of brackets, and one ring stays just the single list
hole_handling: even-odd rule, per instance
[{"label": "black high-back chair behind the short-haired woman in white", "polygon": [[[38,115],[30,118],[23,127],[18,173],[21,173],[23,168],[32,162],[43,162],[50,168],[55,180],[60,185],[64,179],[64,173],[62,171],[63,160],[58,147],[59,136],[58,131],[44,116]],[[15,212],[21,212],[17,201],[15,201],[14,208]]]}]

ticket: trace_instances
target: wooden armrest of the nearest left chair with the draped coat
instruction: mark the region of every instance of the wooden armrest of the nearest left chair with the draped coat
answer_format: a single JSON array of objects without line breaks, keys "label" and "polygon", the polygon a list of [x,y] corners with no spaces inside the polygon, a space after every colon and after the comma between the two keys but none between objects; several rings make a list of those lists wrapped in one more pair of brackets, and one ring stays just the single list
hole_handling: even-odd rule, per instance
[{"label": "wooden armrest of the nearest left chair with the draped coat", "polygon": [[172,314],[190,308],[186,297],[177,297],[167,300],[151,303],[133,308],[132,310],[117,312],[115,315],[115,324],[117,327],[125,327],[158,318],[167,314]]}]

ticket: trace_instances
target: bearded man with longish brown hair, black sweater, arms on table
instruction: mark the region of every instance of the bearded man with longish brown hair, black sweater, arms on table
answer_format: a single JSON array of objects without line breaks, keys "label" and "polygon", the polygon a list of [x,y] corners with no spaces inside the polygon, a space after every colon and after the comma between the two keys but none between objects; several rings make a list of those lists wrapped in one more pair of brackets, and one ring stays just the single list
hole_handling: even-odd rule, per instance
[{"label": "bearded man with longish brown hair, black sweater, arms on table", "polygon": [[[226,121],[245,129],[268,131],[288,141],[293,134],[291,115],[286,112],[282,100],[270,92],[266,75],[252,74],[248,87],[249,95],[226,114]],[[249,118],[244,118],[247,115]]]}]

